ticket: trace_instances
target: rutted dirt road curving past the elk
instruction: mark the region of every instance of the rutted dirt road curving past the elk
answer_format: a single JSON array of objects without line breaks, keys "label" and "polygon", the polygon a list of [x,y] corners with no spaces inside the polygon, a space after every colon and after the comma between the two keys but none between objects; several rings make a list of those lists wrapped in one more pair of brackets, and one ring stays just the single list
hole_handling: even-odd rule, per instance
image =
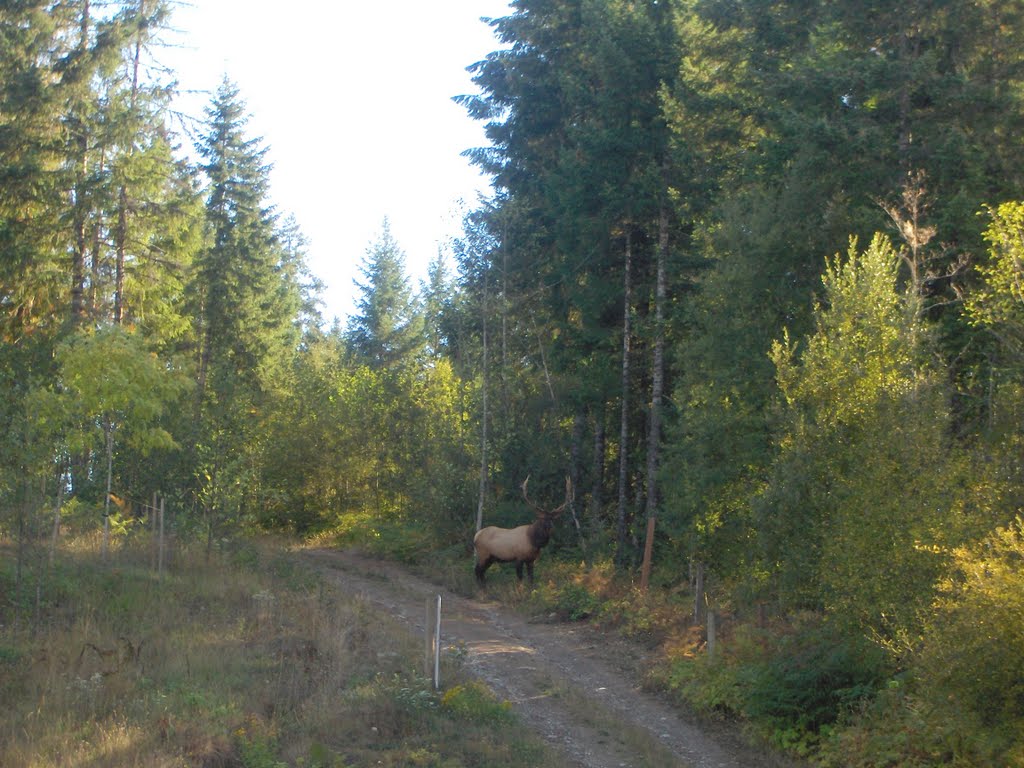
[{"label": "rutted dirt road curving past the elk", "polygon": [[441,595],[441,643],[510,700],[566,765],[580,768],[779,768],[728,731],[690,721],[641,691],[637,655],[584,625],[531,624],[484,599],[467,599],[400,566],[353,552],[304,557],[349,593],[422,633],[425,605]]}]

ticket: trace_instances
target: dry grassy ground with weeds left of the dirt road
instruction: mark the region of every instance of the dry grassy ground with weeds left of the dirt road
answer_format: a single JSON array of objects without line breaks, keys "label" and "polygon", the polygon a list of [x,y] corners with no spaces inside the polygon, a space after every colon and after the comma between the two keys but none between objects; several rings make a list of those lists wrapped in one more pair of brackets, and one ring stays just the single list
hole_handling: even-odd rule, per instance
[{"label": "dry grassy ground with weeds left of the dirt road", "polygon": [[[39,569],[42,572],[42,568]],[[32,573],[25,575],[29,581]],[[0,765],[340,768],[562,759],[422,640],[280,548],[58,553],[33,604],[0,542]],[[24,586],[24,585],[23,585]],[[38,608],[37,608],[38,605]]]}]

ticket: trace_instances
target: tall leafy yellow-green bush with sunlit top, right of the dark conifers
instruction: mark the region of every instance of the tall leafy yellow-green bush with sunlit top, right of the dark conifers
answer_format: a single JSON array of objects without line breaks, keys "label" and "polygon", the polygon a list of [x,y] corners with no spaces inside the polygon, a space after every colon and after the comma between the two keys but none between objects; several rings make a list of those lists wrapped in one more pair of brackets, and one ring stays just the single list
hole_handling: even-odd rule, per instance
[{"label": "tall leafy yellow-green bush with sunlit top, right of the dark conifers", "polygon": [[783,429],[759,500],[780,597],[881,636],[916,631],[958,486],[947,395],[898,266],[881,236],[851,246],[827,266],[806,347],[775,343]]}]

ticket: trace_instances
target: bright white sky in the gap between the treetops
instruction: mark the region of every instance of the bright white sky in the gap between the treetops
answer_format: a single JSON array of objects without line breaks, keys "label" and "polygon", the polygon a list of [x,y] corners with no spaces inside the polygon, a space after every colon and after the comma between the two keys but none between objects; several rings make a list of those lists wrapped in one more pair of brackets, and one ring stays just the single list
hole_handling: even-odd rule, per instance
[{"label": "bright white sky in the gap between the treetops", "polygon": [[179,47],[158,52],[176,73],[178,109],[201,116],[223,76],[233,81],[273,164],[271,198],[309,240],[326,284],[326,319],[352,309],[359,266],[387,216],[414,287],[459,233],[458,203],[486,179],[461,157],[482,126],[452,96],[474,91],[466,67],[499,47],[481,16],[507,0],[323,2],[191,0],[171,25]]}]

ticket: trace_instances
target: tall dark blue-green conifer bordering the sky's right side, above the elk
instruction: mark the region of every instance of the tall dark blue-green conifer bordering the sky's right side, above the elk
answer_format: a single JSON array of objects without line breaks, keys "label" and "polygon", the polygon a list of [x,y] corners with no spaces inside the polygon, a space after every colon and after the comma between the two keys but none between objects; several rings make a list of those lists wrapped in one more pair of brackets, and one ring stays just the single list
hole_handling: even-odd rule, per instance
[{"label": "tall dark blue-green conifer bordering the sky's right side, above the elk", "polygon": [[[501,191],[484,218],[500,244],[490,284],[500,299],[495,432],[508,432],[510,446],[502,464],[550,467],[568,457],[566,470],[582,478],[584,430],[555,425],[602,432],[598,422],[617,411],[625,562],[634,499],[646,498],[647,516],[656,516],[669,296],[688,279],[670,197],[670,186],[685,185],[674,177],[663,115],[678,69],[671,8],[528,1],[493,25],[508,47],[471,68],[481,95],[461,102],[486,122],[492,145],[469,155]],[[531,365],[517,371],[524,360]],[[518,410],[539,423],[525,426]],[[525,438],[522,429],[550,439]],[[526,455],[524,443],[538,454]]]}]

